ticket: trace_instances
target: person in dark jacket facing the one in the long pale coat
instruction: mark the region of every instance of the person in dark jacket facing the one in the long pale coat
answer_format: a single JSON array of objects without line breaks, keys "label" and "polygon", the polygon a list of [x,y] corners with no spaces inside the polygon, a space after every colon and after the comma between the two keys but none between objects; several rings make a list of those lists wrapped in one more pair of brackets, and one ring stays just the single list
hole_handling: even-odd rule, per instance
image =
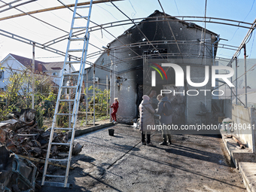
[{"label": "person in dark jacket facing the one in the long pale coat", "polygon": [[167,126],[172,124],[172,105],[167,96],[163,97],[162,95],[158,95],[157,100],[159,103],[156,109],[156,113],[160,114],[160,124],[162,125],[161,131],[163,136],[163,142],[161,142],[160,145],[172,145],[171,131],[167,129]]}]

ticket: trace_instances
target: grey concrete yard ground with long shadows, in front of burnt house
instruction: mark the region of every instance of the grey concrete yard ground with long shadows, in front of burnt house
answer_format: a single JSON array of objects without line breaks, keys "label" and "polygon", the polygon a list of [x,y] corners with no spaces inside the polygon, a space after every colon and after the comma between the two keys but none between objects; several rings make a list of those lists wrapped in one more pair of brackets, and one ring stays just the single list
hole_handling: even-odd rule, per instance
[{"label": "grey concrete yard ground with long shadows, in front of burnt house", "polygon": [[[84,148],[72,157],[72,189],[43,186],[41,191],[246,191],[221,136],[175,135],[173,145],[161,146],[154,133],[150,147],[130,125],[108,128],[76,139]],[[65,175],[64,169],[52,170]]]}]

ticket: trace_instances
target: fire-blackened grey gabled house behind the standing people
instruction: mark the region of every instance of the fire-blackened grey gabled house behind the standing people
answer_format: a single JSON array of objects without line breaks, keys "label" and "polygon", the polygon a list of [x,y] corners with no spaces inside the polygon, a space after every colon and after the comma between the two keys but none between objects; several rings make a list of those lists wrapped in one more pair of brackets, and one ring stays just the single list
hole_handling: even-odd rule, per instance
[{"label": "fire-blackened grey gabled house behind the standing people", "polygon": [[[105,47],[104,53],[84,74],[84,81],[94,81],[96,87],[111,90],[111,102],[119,99],[117,121],[132,123],[139,115],[139,104],[144,94],[155,90],[175,90],[169,94],[174,108],[174,123],[205,123],[212,112],[211,73],[203,87],[192,87],[186,81],[186,66],[190,66],[190,81],[203,82],[206,66],[215,65],[218,35],[195,23],[187,23],[160,11],[127,29]],[[175,86],[177,74],[172,67],[163,66],[163,77],[156,75],[156,86],[151,85],[151,72],[162,63],[175,63],[184,72],[184,87]],[[157,68],[157,66],[154,66]],[[158,68],[157,68],[158,69]],[[159,69],[160,70],[160,69]],[[93,73],[94,77],[93,78]],[[87,77],[88,76],[88,77]],[[108,83],[106,82],[108,81]],[[90,86],[91,84],[89,84]],[[198,91],[197,96],[187,96],[187,90]],[[206,94],[200,90],[211,90]],[[192,91],[189,94],[192,93]]]}]

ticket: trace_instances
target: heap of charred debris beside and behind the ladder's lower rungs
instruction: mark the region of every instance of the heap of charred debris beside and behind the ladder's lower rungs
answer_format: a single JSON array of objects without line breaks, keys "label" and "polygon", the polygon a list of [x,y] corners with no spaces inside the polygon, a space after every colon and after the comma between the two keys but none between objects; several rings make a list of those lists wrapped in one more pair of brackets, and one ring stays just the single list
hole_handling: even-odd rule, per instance
[{"label": "heap of charred debris beside and behind the ladder's lower rungs", "polygon": [[[16,113],[10,116],[14,119],[0,122],[0,145],[5,145],[14,154],[31,160],[41,172],[47,154],[50,130],[44,131],[38,128],[33,109],[25,109],[20,114]],[[68,135],[67,132],[53,133],[53,142],[67,143]],[[72,154],[79,154],[83,147],[84,145],[75,143]],[[61,159],[68,156],[68,153],[69,146],[66,145],[52,145],[50,148],[50,158]],[[2,157],[0,156],[0,158]],[[59,163],[55,164],[62,166]]]}]

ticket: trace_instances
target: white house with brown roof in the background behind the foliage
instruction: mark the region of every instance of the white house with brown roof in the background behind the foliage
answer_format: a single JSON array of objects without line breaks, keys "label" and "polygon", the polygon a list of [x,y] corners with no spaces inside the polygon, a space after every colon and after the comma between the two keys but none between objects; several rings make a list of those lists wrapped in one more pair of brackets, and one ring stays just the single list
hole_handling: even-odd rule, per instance
[{"label": "white house with brown roof in the background behind the foliage", "polygon": [[[32,71],[32,59],[24,56],[17,56],[13,53],[9,53],[0,63],[0,90],[6,90],[6,85],[9,82],[8,79],[10,78],[11,73],[25,72],[27,69]],[[54,85],[58,87],[63,64],[64,62],[41,62],[35,60],[35,74],[49,76]],[[66,70],[75,72],[74,67],[69,67],[69,65],[66,66]]]}]

